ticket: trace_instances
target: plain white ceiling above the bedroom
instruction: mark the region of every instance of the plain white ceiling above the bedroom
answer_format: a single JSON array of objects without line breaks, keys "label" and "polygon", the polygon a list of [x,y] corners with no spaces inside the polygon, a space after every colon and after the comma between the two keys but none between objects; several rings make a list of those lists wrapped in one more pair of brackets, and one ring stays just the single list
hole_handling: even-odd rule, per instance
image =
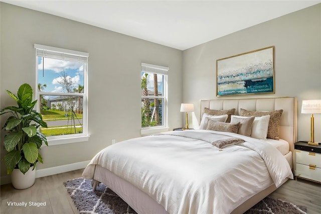
[{"label": "plain white ceiling above the bedroom", "polygon": [[318,1],[2,1],[185,50]]}]

